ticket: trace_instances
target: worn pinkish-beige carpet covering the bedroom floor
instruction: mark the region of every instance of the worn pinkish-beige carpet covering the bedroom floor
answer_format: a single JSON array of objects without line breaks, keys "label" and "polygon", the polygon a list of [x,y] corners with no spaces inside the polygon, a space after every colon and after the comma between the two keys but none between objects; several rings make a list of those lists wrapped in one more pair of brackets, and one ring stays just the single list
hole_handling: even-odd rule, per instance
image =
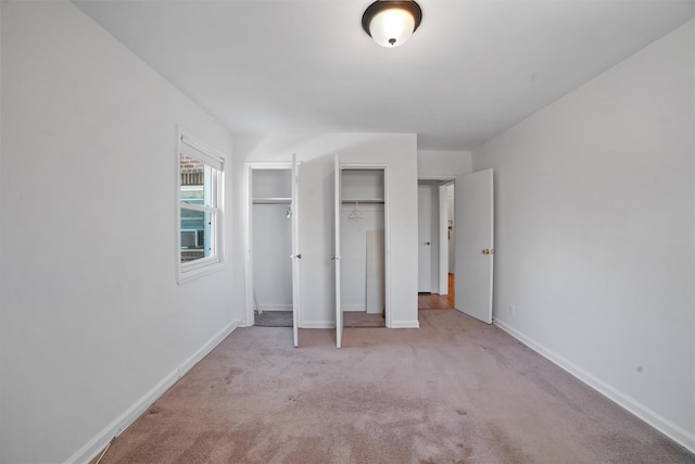
[{"label": "worn pinkish-beige carpet covering the bedroom floor", "polygon": [[420,329],[235,330],[102,463],[694,463],[504,331],[457,311]]}]

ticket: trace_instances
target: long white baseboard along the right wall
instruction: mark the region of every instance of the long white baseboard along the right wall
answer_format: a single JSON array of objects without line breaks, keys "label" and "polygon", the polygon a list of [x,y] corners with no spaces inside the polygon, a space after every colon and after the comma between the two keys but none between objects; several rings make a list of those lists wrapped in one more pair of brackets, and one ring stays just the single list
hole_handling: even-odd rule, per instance
[{"label": "long white baseboard along the right wall", "polygon": [[695,453],[695,435],[673,424],[666,417],[652,411],[650,409],[646,407],[645,405],[630,398],[629,396],[621,392],[620,390],[594,377],[592,374],[587,373],[583,368],[579,367],[572,362],[555,353],[553,350],[549,350],[544,346],[536,343],[531,338],[521,334],[517,329],[508,326],[502,321],[493,319],[492,323],[497,327],[500,327],[501,329],[503,329],[504,331],[506,331],[507,334],[509,334],[510,336],[513,336],[514,338],[516,338],[517,340],[522,341],[530,349],[541,354],[543,358],[546,358],[548,361],[553,362],[554,364],[558,365],[563,369],[567,371],[568,373],[570,373],[571,375],[573,375],[584,384],[589,385],[594,390],[598,391],[609,400],[614,401],[615,403],[628,410],[635,416],[640,417],[642,421],[646,422],[652,427],[656,428],[667,437],[671,438],[673,441],[682,444],[683,447],[687,448],[691,452]]}]

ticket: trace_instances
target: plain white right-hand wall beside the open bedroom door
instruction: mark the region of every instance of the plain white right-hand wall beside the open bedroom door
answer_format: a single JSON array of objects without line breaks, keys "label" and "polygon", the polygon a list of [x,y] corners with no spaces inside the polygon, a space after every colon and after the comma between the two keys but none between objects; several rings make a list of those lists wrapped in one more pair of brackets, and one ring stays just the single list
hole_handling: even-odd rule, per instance
[{"label": "plain white right-hand wall beside the open bedroom door", "polygon": [[693,64],[691,21],[473,150],[494,318],[691,450]]}]

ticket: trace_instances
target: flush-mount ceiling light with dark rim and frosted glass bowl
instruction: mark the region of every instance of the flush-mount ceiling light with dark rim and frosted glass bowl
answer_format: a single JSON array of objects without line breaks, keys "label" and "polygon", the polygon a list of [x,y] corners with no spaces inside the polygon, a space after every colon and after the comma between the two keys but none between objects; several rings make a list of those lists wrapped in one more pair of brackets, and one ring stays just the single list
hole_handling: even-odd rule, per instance
[{"label": "flush-mount ceiling light with dark rim and frosted glass bowl", "polygon": [[378,0],[362,15],[362,27],[381,47],[405,43],[422,21],[420,5],[408,0]]}]

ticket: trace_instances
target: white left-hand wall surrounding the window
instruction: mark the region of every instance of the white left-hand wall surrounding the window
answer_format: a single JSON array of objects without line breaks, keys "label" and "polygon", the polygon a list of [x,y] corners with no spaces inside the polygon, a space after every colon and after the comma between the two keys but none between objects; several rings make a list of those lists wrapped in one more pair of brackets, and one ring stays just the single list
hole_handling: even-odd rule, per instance
[{"label": "white left-hand wall surrounding the window", "polygon": [[0,5],[0,461],[87,461],[240,318],[230,265],[175,273],[176,125],[231,138],[72,3]]}]

